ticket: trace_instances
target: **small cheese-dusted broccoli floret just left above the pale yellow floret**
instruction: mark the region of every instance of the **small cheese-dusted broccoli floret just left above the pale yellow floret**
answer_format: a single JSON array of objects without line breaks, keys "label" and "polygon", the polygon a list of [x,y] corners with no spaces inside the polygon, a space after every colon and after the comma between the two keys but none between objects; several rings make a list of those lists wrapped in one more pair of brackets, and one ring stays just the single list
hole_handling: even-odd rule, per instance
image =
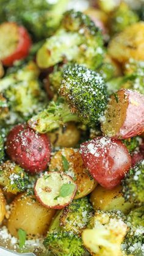
[{"label": "small cheese-dusted broccoli floret just left above the pale yellow floret", "polygon": [[93,208],[87,197],[73,200],[73,202],[63,210],[60,216],[60,227],[62,230],[80,235],[82,229],[87,227],[92,219]]}]

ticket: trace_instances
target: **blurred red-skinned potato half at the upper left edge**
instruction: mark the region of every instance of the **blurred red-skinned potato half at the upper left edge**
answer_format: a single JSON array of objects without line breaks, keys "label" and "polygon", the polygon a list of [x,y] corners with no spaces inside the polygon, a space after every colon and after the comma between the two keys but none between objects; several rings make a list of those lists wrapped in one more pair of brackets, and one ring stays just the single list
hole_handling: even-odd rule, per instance
[{"label": "blurred red-skinned potato half at the upper left edge", "polygon": [[23,26],[5,22],[0,26],[0,59],[5,66],[24,59],[31,48],[31,37]]}]

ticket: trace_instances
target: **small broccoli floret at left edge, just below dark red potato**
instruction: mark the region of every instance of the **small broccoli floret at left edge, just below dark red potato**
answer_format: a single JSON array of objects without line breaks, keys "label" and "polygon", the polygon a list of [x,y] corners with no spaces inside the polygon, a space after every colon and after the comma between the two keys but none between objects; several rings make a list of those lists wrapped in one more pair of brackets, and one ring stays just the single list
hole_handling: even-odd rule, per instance
[{"label": "small broccoli floret at left edge, just below dark red potato", "polygon": [[4,190],[17,194],[26,191],[29,186],[29,176],[24,170],[9,160],[0,166],[0,185]]}]

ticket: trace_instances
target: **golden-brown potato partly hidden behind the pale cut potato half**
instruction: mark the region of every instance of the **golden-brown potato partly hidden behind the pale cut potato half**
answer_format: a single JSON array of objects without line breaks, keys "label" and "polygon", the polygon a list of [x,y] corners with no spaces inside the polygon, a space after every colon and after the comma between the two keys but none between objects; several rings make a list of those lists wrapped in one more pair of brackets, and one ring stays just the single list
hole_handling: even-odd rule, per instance
[{"label": "golden-brown potato partly hidden behind the pale cut potato half", "polygon": [[81,154],[73,148],[62,148],[52,156],[49,170],[65,172],[70,175],[77,185],[74,199],[87,196],[95,189],[97,183],[88,173],[82,161]]}]

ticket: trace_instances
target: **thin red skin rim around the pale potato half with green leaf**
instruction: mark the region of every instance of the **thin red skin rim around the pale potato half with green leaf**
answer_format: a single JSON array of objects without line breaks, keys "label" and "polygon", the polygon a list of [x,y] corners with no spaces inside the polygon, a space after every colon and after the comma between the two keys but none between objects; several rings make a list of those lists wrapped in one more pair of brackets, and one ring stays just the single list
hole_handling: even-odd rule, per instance
[{"label": "thin red skin rim around the pale potato half with green leaf", "polygon": [[[48,173],[50,174],[51,172],[48,172]],[[69,175],[67,175],[67,176],[69,176]],[[70,177],[70,176],[69,176],[69,177]],[[71,178],[71,177],[70,177],[70,178]],[[72,178],[71,178],[71,180],[73,181]],[[43,205],[43,207],[46,207],[46,208],[48,208],[48,209],[55,209],[55,210],[60,210],[60,209],[63,209],[63,208],[65,208],[65,207],[67,207],[68,205],[70,205],[70,203],[73,201],[74,196],[75,196],[76,191],[77,191],[77,185],[76,185],[76,189],[75,189],[74,192],[73,192],[73,196],[71,197],[71,200],[70,200],[68,203],[65,203],[65,205],[54,205],[54,206],[52,206],[52,207],[49,207],[49,205],[46,205],[45,203],[43,203],[43,202],[41,201],[40,197],[39,197],[38,194],[37,194],[36,186],[37,186],[37,181],[36,181],[36,183],[35,183],[34,193],[35,193],[35,197],[37,197],[38,202],[40,202],[40,204]]]}]

